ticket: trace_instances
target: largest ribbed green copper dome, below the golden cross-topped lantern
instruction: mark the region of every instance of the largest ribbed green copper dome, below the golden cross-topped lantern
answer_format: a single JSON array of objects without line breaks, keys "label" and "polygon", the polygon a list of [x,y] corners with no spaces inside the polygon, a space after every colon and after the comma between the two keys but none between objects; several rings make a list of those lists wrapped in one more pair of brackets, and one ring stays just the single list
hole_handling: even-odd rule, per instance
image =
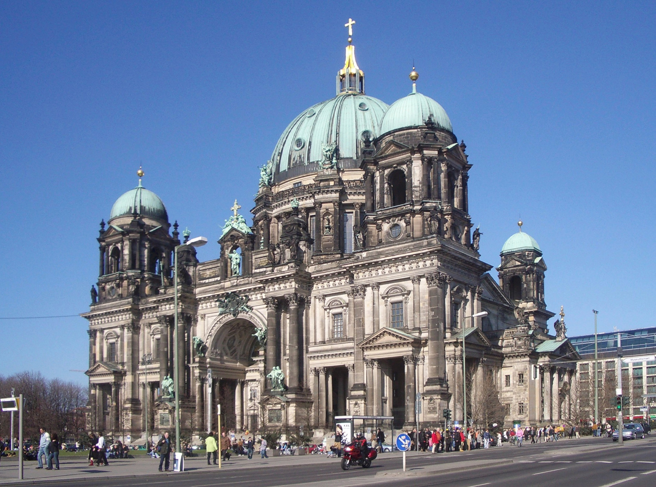
[{"label": "largest ribbed green copper dome, below the golden cross-topped lantern", "polygon": [[274,182],[319,171],[323,147],[333,143],[338,167],[359,167],[363,141],[380,135],[380,121],[387,108],[373,96],[341,93],[304,110],[276,144],[271,156]]}]

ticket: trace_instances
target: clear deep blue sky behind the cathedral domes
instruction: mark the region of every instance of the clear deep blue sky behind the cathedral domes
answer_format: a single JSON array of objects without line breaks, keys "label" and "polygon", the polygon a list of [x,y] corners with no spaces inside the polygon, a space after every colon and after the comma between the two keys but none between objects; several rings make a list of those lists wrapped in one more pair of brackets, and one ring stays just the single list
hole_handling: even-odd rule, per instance
[{"label": "clear deep blue sky behind the cathedral domes", "polygon": [[[569,334],[653,324],[653,2],[0,4],[0,316],[88,310],[98,223],[136,184],[209,238],[287,124],[335,95],[353,17],[367,94],[435,98],[474,167],[470,213],[499,265],[523,230]],[[496,272],[493,272],[496,277]],[[83,318],[0,320],[0,373],[85,383]]]}]

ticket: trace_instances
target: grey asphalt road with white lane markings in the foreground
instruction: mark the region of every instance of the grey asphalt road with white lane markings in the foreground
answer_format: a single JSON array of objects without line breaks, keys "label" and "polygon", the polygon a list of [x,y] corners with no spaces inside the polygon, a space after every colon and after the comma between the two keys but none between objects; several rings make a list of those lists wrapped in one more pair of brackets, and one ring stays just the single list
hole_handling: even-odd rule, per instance
[{"label": "grey asphalt road with white lane markings in the foreground", "polygon": [[[656,436],[656,435],[654,435]],[[256,487],[323,484],[355,487],[390,484],[394,487],[653,487],[656,486],[656,437],[625,442],[619,447],[607,439],[562,440],[546,444],[524,444],[451,454],[417,454],[407,457],[408,472],[400,473],[401,456],[382,454],[370,469],[340,469],[338,460],[311,455],[304,465],[257,465],[236,468],[228,463],[221,471],[188,475],[142,476],[136,478],[66,480],[39,483],[44,486],[71,484],[80,487],[210,487],[251,484]],[[510,461],[505,465],[476,465],[483,461]],[[239,462],[244,465],[242,462]],[[191,464],[190,464],[191,465]],[[234,466],[233,466],[234,465]],[[390,483],[392,482],[392,483]]]}]

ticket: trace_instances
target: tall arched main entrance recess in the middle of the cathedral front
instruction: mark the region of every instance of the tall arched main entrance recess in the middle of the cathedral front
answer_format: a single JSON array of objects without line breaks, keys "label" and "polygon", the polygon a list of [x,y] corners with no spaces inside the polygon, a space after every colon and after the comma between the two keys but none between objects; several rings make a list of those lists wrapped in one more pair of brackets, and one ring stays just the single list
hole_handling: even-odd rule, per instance
[{"label": "tall arched main entrance recess in the middle of the cathedral front", "polygon": [[[216,405],[221,405],[221,429],[241,431],[249,424],[249,401],[258,396],[253,391],[260,389],[260,374],[253,369],[258,362],[263,364],[260,343],[255,337],[256,326],[247,318],[231,318],[220,324],[209,341],[207,367],[211,370],[211,424],[208,429],[216,431]],[[248,380],[249,370],[251,380]]]}]

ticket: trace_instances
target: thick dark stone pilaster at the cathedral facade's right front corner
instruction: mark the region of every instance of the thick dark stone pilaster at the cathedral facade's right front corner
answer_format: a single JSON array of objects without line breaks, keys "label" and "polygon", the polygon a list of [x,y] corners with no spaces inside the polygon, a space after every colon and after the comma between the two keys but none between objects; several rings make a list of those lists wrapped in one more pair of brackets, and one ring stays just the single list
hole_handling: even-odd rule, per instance
[{"label": "thick dark stone pilaster at the cathedral facade's right front corner", "polygon": [[[428,378],[426,387],[439,385],[444,379],[444,287],[450,278],[443,272],[426,274],[428,284]],[[449,377],[452,381],[453,377]]]}]

